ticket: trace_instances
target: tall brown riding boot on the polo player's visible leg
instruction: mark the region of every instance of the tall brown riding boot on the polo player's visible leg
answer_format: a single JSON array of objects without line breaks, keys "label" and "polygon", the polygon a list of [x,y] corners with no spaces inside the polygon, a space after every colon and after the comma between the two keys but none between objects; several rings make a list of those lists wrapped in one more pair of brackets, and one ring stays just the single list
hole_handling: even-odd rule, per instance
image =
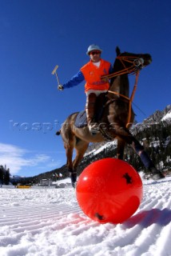
[{"label": "tall brown riding boot on the polo player's visible leg", "polygon": [[89,94],[86,98],[86,117],[87,117],[87,125],[89,127],[90,132],[94,132],[99,130],[97,122],[95,122],[95,104],[96,104],[96,94]]}]

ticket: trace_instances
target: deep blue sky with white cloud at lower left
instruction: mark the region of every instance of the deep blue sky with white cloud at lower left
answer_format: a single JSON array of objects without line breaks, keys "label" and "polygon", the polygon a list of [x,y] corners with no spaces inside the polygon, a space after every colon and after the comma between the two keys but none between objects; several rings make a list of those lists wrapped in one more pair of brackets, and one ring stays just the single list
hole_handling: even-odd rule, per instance
[{"label": "deep blue sky with white cloud at lower left", "polygon": [[89,61],[92,43],[111,63],[116,46],[152,55],[133,101],[144,113],[133,107],[137,122],[171,103],[171,2],[0,0],[0,6],[0,164],[11,174],[33,176],[66,163],[55,132],[84,109],[84,83],[58,91],[51,72],[58,64],[66,82]]}]

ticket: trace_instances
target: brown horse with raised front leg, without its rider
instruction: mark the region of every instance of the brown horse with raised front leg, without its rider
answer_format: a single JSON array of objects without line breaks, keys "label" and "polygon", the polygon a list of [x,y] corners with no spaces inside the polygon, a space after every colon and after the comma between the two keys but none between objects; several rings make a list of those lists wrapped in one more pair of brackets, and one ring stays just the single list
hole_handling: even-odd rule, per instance
[{"label": "brown horse with raised front leg, without its rider", "polygon": [[[134,118],[131,107],[134,91],[129,98],[128,74],[136,74],[135,88],[139,71],[144,66],[149,65],[152,62],[152,58],[149,54],[129,54],[127,52],[121,54],[118,47],[116,52],[117,58],[113,64],[113,74],[102,78],[111,78],[109,90],[102,103],[100,96],[97,98],[97,110],[101,109],[99,104],[103,105],[101,116],[98,118],[99,132],[91,134],[87,126],[78,128],[75,125],[78,113],[70,114],[62,124],[61,130],[57,132],[57,134],[62,135],[66,149],[66,165],[70,172],[73,186],[75,186],[74,184],[77,181],[78,164],[81,162],[89,142],[103,142],[106,139],[113,140],[115,138],[117,138],[117,158],[123,158],[125,143],[128,143],[140,156],[145,167],[151,171],[153,179],[164,178],[163,174],[156,170],[143,146],[137,142],[137,139],[130,134],[128,129],[133,123]],[[73,161],[74,149],[76,150],[76,157]]]}]

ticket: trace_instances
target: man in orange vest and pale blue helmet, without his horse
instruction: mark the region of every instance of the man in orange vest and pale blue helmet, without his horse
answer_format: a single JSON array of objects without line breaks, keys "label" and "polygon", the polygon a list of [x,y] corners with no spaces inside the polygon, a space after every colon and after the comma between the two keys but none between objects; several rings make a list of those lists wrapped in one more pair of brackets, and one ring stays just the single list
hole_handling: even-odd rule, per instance
[{"label": "man in orange vest and pale blue helmet, without his horse", "polygon": [[78,74],[74,75],[68,82],[58,86],[58,90],[63,90],[78,86],[79,83],[85,80],[85,110],[89,131],[91,132],[98,130],[97,120],[95,121],[97,97],[99,96],[102,100],[107,90],[109,90],[109,81],[101,80],[101,76],[113,73],[112,65],[101,59],[101,52],[99,46],[90,45],[86,52],[90,58],[89,62],[82,66]]}]

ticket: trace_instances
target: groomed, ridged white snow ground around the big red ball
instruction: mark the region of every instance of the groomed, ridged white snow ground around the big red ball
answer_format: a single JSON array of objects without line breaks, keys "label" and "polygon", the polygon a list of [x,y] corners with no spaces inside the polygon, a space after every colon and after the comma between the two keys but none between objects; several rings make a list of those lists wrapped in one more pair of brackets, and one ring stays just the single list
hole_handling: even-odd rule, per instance
[{"label": "groomed, ridged white snow ground around the big red ball", "polygon": [[143,180],[144,196],[137,212],[117,225],[99,224],[85,216],[72,187],[2,186],[0,255],[170,256],[170,185],[171,177]]}]

